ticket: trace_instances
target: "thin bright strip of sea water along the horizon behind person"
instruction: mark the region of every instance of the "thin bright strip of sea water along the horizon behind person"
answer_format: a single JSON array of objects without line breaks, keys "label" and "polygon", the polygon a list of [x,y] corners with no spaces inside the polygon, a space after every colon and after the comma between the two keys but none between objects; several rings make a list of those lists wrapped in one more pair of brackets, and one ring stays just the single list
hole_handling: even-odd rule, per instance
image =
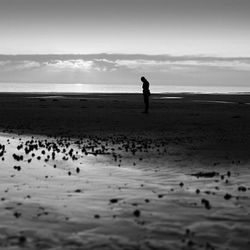
[{"label": "thin bright strip of sea water along the horizon behind person", "polygon": [[[180,86],[153,85],[152,93],[248,93],[250,86]],[[8,93],[141,93],[140,85],[116,84],[55,84],[55,83],[0,83],[0,92]]]}]

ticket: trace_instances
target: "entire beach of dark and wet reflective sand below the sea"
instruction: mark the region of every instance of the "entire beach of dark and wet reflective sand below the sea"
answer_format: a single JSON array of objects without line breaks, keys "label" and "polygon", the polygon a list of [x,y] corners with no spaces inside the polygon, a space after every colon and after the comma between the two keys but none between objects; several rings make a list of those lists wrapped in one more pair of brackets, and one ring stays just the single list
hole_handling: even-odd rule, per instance
[{"label": "entire beach of dark and wet reflective sand below the sea", "polygon": [[248,103],[0,94],[0,247],[249,249]]}]

